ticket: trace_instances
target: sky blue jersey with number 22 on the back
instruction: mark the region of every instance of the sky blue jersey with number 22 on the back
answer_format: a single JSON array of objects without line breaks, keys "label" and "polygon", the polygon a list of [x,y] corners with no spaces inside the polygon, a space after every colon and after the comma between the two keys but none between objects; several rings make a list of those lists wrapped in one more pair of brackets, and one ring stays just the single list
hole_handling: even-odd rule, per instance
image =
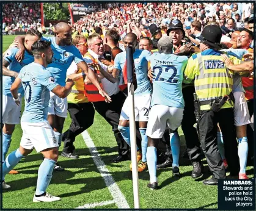
[{"label": "sky blue jersey with number 22 on the back", "polygon": [[150,62],[155,74],[151,106],[167,105],[183,109],[181,84],[188,57],[156,52],[151,55]]}]

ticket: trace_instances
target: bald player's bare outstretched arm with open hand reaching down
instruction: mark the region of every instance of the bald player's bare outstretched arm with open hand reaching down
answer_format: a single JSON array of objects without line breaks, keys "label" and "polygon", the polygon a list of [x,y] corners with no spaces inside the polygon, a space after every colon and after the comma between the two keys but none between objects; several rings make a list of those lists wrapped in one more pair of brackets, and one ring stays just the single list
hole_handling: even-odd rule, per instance
[{"label": "bald player's bare outstretched arm with open hand reaching down", "polygon": [[93,85],[95,85],[95,87],[97,87],[99,93],[101,96],[103,96],[105,98],[106,102],[111,102],[111,98],[108,96],[108,94],[101,88],[100,83],[98,82],[97,77],[95,76],[95,73],[93,72],[93,70],[91,70],[90,68],[88,68],[87,63],[82,61],[79,62],[78,64],[78,68],[81,68],[81,70],[84,72],[84,74],[86,74],[86,76],[88,77],[88,79],[92,82]]}]

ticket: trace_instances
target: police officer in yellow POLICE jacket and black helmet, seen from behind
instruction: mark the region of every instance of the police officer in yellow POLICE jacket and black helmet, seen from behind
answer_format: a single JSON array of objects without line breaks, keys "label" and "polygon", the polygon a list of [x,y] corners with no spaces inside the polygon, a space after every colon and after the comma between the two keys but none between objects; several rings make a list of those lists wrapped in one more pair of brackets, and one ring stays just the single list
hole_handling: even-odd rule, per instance
[{"label": "police officer in yellow POLICE jacket and black helmet, seen from behind", "polygon": [[[234,127],[232,87],[233,72],[228,70],[221,57],[222,32],[219,26],[206,26],[200,36],[198,54],[189,58],[185,69],[185,82],[195,79],[195,90],[200,102],[199,135],[203,152],[213,177],[203,181],[218,185],[225,178],[224,163],[217,146],[217,124],[221,127],[224,149],[230,176],[239,172],[238,148]],[[236,57],[230,56],[233,61]],[[221,77],[220,77],[221,76]]]}]

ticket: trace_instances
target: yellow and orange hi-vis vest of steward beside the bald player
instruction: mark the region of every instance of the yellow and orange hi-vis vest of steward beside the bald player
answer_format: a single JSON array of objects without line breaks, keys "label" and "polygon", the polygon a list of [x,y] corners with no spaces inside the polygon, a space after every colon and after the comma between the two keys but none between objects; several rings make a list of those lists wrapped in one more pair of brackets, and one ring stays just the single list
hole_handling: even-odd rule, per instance
[{"label": "yellow and orange hi-vis vest of steward beside the bald player", "polygon": [[[77,73],[82,73],[82,70],[79,69]],[[84,79],[79,78],[74,82],[75,82],[75,85],[73,85],[71,92],[68,95],[68,103],[77,104],[77,103],[89,102],[87,97],[84,96]]]}]

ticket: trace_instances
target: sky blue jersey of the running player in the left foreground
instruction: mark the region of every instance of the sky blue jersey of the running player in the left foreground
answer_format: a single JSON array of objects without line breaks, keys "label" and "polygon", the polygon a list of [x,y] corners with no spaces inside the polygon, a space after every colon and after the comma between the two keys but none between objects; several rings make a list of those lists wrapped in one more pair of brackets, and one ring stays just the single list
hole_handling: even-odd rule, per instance
[{"label": "sky blue jersey of the running player in the left foreground", "polygon": [[38,63],[24,66],[18,77],[24,88],[25,108],[21,117],[22,122],[47,122],[49,91],[58,84],[46,68]]}]

